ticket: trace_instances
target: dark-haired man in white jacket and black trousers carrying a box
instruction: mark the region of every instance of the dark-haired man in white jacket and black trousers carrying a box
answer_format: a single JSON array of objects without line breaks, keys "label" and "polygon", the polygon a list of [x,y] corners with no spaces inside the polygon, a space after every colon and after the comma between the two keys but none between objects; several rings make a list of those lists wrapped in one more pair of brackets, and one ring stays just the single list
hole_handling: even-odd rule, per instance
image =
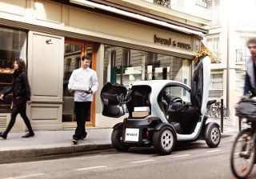
[{"label": "dark-haired man in white jacket and black trousers carrying a box", "polygon": [[[74,111],[77,121],[77,128],[73,135],[74,145],[78,144],[78,140],[83,140],[86,133],[86,117],[90,110],[91,101],[93,101],[94,93],[98,90],[98,78],[94,70],[90,69],[90,55],[84,55],[81,59],[82,67],[74,70],[71,74],[68,88],[70,92],[74,92]],[[81,82],[89,83],[89,90],[72,90],[72,86]],[[88,86],[88,84],[85,84]]]}]

